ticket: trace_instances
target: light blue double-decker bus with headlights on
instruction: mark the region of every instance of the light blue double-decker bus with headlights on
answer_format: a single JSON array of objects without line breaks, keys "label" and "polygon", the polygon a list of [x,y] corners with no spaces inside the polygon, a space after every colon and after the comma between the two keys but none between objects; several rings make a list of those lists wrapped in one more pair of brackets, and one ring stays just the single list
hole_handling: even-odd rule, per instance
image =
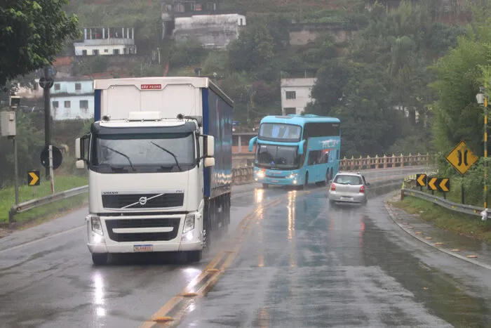
[{"label": "light blue double-decker bus with headlights on", "polygon": [[250,139],[255,150],[254,178],[269,185],[328,183],[339,167],[340,121],[313,114],[267,116]]}]

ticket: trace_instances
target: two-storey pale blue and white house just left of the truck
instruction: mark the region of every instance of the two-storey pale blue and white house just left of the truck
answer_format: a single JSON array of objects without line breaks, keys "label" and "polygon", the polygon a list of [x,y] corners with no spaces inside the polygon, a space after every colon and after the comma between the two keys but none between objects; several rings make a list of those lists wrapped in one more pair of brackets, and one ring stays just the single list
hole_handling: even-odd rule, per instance
[{"label": "two-storey pale blue and white house just left of the truck", "polygon": [[51,88],[51,115],[55,121],[93,118],[93,79],[86,77],[55,79]]}]

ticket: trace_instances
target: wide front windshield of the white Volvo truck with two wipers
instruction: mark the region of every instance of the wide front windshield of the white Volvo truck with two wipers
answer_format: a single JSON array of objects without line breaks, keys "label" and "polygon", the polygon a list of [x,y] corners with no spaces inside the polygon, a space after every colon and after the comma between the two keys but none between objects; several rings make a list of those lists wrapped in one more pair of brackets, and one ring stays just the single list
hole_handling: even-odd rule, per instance
[{"label": "wide front windshield of the white Volvo truck with two wipers", "polygon": [[104,171],[186,171],[195,166],[192,133],[94,138],[91,164]]}]

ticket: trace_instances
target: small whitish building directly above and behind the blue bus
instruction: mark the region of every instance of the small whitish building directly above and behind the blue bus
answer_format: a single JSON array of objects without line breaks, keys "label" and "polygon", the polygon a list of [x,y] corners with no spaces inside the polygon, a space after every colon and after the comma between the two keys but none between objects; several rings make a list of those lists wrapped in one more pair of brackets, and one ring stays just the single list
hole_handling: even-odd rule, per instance
[{"label": "small whitish building directly above and behind the blue bus", "polygon": [[316,78],[281,79],[281,112],[283,115],[302,114],[312,101],[311,90]]}]

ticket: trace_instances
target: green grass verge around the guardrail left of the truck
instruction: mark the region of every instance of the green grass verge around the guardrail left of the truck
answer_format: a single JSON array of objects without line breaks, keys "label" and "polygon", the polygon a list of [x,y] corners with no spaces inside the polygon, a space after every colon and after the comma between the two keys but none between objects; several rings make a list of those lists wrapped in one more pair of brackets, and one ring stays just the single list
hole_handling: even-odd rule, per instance
[{"label": "green grass verge around the guardrail left of the truck", "polygon": [[[55,192],[61,192],[72,188],[80,187],[88,183],[86,177],[81,176],[55,176]],[[36,199],[51,195],[51,185],[49,181],[41,182],[37,187],[22,185],[19,187],[19,202],[27,202],[30,199]],[[15,216],[15,221],[29,221],[34,218],[46,218],[51,214],[59,211],[66,211],[77,206],[86,204],[87,195],[78,195],[69,199],[63,199],[53,204],[37,207],[31,211],[21,213]],[[15,203],[15,191],[13,187],[0,190],[0,225],[8,223],[8,211]]]}]

